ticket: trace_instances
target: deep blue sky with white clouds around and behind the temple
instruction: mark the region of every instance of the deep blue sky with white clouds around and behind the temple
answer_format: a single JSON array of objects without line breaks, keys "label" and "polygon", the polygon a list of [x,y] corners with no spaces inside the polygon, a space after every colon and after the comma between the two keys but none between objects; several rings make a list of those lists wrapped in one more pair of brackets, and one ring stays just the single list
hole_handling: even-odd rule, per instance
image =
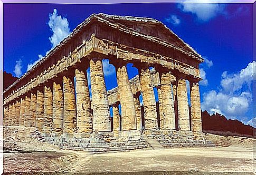
[{"label": "deep blue sky with white clouds around and behind the temple", "polygon": [[[21,76],[92,13],[162,21],[205,58],[202,109],[252,124],[252,4],[4,4],[4,70]],[[104,69],[107,89],[117,86],[107,60]]]}]

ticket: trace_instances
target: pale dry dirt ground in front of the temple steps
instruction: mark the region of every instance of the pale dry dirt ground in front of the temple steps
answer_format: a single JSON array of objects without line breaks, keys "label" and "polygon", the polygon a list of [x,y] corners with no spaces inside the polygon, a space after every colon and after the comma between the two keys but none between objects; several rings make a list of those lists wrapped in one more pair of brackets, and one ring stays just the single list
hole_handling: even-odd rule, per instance
[{"label": "pale dry dirt ground in front of the temple steps", "polygon": [[252,172],[253,139],[208,135],[214,148],[170,148],[90,154],[60,150],[30,138],[33,128],[4,128],[4,171],[140,172],[218,171]]}]

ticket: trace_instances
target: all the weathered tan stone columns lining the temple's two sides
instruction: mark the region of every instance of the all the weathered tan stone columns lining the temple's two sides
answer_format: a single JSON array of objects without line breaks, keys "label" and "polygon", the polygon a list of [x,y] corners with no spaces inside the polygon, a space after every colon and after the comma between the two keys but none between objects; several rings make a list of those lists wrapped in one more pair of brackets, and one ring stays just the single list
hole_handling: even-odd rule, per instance
[{"label": "all the weathered tan stone columns lining the temple's two sides", "polygon": [[[119,63],[116,69],[121,119],[117,103],[113,105],[114,133],[117,133],[120,128],[122,131],[140,129],[143,122],[144,129],[156,129],[156,102],[149,68],[139,69],[144,121],[141,118],[139,94],[132,94],[126,64]],[[73,77],[63,76],[63,81],[54,81],[51,87],[45,86],[44,91],[37,90],[37,94],[26,96],[21,101],[6,107],[7,124],[19,122],[20,125],[35,126],[44,133],[72,134],[74,132],[111,131],[102,60],[97,58],[90,60],[92,104],[86,71],[75,69],[74,74],[76,89],[74,89]],[[160,128],[175,129],[175,102],[177,102],[179,129],[189,130],[185,79],[180,77],[176,80],[176,77],[168,72],[160,74],[160,81],[161,85],[158,88]],[[192,130],[202,131],[198,83],[191,83],[191,105]],[[16,116],[19,116],[19,119]]]}]

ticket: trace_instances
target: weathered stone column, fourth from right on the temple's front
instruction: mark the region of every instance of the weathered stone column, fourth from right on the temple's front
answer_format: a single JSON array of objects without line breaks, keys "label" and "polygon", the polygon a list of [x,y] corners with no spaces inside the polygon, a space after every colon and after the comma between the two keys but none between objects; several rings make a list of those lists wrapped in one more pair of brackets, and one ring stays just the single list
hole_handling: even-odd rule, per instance
[{"label": "weathered stone column, fourth from right on the temple's front", "polygon": [[149,68],[139,69],[139,77],[145,111],[145,129],[157,129],[156,100]]}]

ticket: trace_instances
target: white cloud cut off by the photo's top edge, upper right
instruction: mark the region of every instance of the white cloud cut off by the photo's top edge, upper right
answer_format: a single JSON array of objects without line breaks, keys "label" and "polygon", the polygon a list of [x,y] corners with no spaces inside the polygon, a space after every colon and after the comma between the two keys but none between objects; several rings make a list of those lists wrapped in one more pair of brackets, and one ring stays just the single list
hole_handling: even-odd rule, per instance
[{"label": "white cloud cut off by the photo's top edge, upper right", "polygon": [[200,0],[198,3],[189,3],[191,1],[185,1],[185,3],[179,4],[183,12],[195,14],[197,19],[206,22],[217,15],[226,14],[225,4],[210,3],[208,0]]}]

